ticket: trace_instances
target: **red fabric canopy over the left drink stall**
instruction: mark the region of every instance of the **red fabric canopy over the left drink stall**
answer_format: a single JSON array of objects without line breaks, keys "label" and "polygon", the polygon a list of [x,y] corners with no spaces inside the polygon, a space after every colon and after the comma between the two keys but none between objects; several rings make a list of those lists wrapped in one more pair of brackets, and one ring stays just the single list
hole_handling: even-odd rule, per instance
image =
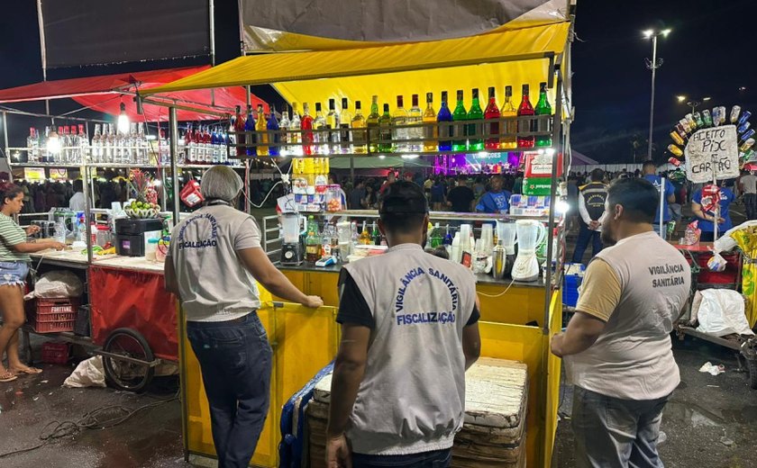
[{"label": "red fabric canopy over the left drink stall", "polygon": [[[126,113],[132,121],[168,121],[169,110],[160,105],[144,103],[142,115],[137,114],[136,103],[131,94],[137,89],[165,85],[186,76],[194,75],[210,66],[169,68],[164,70],[123,73],[118,75],[91,76],[56,81],[43,81],[33,85],[23,85],[0,90],[0,103],[18,103],[23,101],[40,101],[43,99],[71,98],[74,101],[97,112],[118,115],[121,103],[126,105]],[[251,96],[253,108],[259,103],[269,111],[268,104],[254,94]],[[156,98],[150,98],[156,99]],[[184,103],[200,109],[210,109],[210,90],[180,91],[160,94],[161,101]],[[233,109],[236,105],[246,105],[246,95],[242,86],[214,89],[215,105]],[[218,119],[214,114],[178,110],[179,121],[199,121]]]}]

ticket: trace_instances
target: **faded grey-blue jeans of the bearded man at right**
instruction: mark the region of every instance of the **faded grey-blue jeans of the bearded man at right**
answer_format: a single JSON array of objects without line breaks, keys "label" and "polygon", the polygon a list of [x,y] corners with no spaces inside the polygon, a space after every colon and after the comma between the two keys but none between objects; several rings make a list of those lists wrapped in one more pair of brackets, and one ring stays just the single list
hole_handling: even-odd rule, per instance
[{"label": "faded grey-blue jeans of the bearded man at right", "polygon": [[579,468],[663,468],[657,454],[670,395],[633,401],[573,387],[572,426]]}]

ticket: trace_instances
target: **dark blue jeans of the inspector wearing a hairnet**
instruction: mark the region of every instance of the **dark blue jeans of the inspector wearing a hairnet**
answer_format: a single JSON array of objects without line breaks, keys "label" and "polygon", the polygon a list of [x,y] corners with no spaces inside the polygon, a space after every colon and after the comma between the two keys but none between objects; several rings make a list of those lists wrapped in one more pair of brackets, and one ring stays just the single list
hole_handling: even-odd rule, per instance
[{"label": "dark blue jeans of the inspector wearing a hairnet", "polygon": [[246,468],[269,410],[271,348],[254,311],[238,320],[187,321],[200,362],[219,468]]}]

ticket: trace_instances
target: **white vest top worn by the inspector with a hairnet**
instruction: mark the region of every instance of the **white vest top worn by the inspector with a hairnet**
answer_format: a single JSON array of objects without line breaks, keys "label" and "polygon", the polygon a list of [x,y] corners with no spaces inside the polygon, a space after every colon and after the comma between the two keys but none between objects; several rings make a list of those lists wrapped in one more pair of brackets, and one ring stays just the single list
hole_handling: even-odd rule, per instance
[{"label": "white vest top worn by the inspector with a hairnet", "polygon": [[238,250],[260,248],[258,223],[231,206],[205,206],[171,233],[169,258],[189,321],[226,321],[260,308],[255,278]]}]

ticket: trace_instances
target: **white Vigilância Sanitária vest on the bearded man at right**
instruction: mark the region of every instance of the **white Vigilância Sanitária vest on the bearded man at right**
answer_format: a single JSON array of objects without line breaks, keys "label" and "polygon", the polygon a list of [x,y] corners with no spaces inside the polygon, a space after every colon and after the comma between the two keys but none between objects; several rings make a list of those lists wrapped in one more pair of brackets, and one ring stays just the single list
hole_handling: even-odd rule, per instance
[{"label": "white Vigil\u00e2ncia Sanit\u00e1ria vest on the bearded man at right", "polygon": [[597,258],[615,270],[620,301],[594,345],[566,356],[572,382],[624,400],[669,395],[680,383],[670,331],[689,299],[689,264],[654,232],[625,238]]}]

